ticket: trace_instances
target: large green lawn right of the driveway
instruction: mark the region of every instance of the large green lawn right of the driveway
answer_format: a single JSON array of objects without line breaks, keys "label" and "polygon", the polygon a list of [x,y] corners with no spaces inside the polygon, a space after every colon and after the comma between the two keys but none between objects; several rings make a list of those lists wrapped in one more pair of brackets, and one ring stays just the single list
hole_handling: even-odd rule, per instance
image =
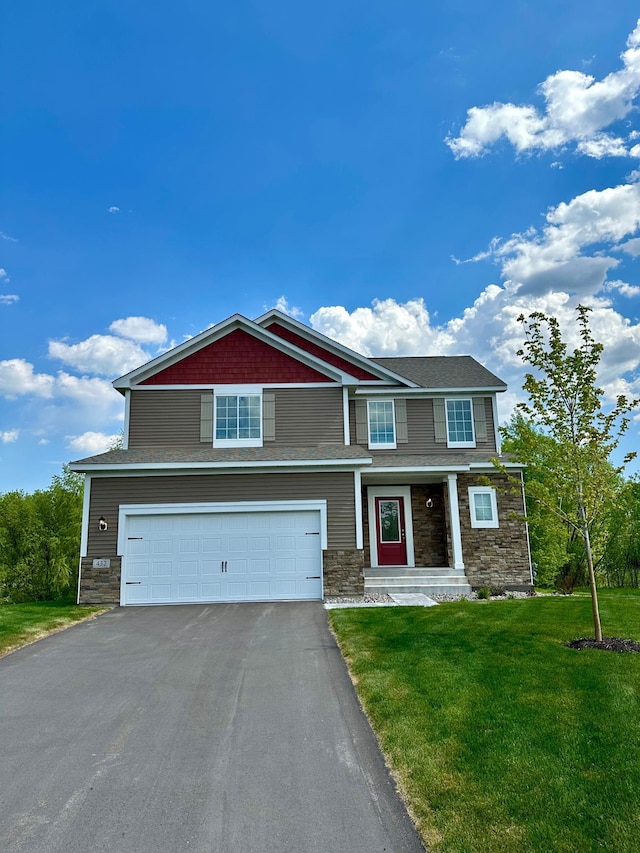
[{"label": "large green lawn right of the driveway", "polygon": [[[640,640],[640,590],[603,590]],[[574,651],[588,596],[330,611],[431,851],[637,853],[640,654]]]}]

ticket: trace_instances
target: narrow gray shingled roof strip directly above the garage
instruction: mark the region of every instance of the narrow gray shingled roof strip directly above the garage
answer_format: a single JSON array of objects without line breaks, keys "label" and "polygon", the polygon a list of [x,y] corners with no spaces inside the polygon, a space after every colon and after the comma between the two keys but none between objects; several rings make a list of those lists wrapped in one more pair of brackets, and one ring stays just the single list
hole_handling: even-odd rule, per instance
[{"label": "narrow gray shingled roof strip directly above the garage", "polygon": [[197,465],[252,462],[331,462],[368,461],[371,454],[357,445],[320,444],[314,447],[139,447],[132,450],[108,450],[71,463],[74,469],[89,470],[99,465]]}]

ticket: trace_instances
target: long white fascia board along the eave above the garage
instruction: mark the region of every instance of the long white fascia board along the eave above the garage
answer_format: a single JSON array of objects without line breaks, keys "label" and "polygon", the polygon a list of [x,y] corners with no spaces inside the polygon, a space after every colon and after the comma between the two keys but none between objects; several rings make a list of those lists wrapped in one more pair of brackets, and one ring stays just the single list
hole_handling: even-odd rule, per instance
[{"label": "long white fascia board along the eave above the garage", "polygon": [[103,465],[87,465],[77,466],[75,463],[69,465],[71,471],[90,472],[91,476],[100,476],[100,474],[109,474],[109,476],[118,475],[129,476],[133,473],[165,473],[165,472],[185,472],[185,473],[202,473],[206,474],[210,471],[225,471],[230,474],[242,473],[259,468],[288,468],[291,471],[296,469],[321,468],[323,471],[356,470],[363,466],[371,465],[373,459],[301,459],[292,461],[290,459],[278,459],[272,462],[137,462],[137,463],[105,463]]}]

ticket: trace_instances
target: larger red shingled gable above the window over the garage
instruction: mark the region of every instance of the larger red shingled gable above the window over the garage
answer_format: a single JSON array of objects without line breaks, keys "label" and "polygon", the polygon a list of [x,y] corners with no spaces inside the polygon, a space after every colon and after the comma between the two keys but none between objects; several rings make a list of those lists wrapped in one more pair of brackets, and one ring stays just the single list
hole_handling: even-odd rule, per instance
[{"label": "larger red shingled gable above the window over the garage", "polygon": [[264,382],[328,382],[312,367],[235,329],[144,379],[141,385],[258,385]]}]

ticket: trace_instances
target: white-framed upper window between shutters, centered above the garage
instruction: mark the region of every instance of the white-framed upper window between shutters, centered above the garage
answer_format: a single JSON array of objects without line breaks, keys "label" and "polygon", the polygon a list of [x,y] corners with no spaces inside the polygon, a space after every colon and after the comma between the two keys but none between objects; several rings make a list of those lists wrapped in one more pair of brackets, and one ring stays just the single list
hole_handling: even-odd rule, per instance
[{"label": "white-framed upper window between shutters, centered above the garage", "polygon": [[215,447],[262,447],[262,394],[253,388],[214,393]]}]

